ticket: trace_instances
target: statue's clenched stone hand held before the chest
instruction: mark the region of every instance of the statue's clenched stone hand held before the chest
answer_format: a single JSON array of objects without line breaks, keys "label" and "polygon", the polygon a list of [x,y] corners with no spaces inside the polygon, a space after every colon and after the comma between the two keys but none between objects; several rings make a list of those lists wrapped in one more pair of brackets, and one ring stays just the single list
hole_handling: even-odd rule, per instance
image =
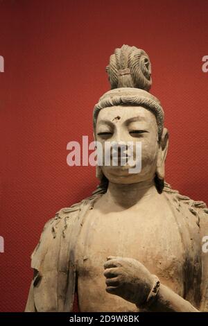
[{"label": "statue's clenched stone hand held before the chest", "polygon": [[155,279],[144,265],[136,259],[110,256],[104,268],[107,293],[137,305],[146,302]]}]

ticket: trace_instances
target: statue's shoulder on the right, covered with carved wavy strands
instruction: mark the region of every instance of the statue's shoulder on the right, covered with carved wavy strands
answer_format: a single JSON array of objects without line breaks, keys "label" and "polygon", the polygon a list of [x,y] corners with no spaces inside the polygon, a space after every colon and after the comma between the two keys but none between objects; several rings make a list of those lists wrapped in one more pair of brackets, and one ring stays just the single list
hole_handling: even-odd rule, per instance
[{"label": "statue's shoulder on the right, covered with carved wavy strands", "polygon": [[179,191],[172,189],[171,185],[168,185],[167,182],[164,182],[163,193],[178,212],[185,209],[190,214],[196,216],[197,223],[200,223],[200,218],[206,218],[208,223],[208,207],[205,202],[202,200],[193,200],[188,196],[180,194]]}]

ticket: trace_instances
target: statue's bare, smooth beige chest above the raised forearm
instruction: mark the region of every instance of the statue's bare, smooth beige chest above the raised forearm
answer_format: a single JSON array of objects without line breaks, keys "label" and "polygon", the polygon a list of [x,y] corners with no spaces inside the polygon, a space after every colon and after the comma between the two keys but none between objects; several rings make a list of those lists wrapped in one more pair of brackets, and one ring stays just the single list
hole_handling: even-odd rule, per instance
[{"label": "statue's bare, smooth beige chest above the raised forearm", "polygon": [[107,256],[130,257],[167,285],[174,282],[178,291],[182,289],[184,248],[180,225],[168,205],[110,214],[92,209],[80,232],[77,254],[80,275],[93,278],[103,273]]}]

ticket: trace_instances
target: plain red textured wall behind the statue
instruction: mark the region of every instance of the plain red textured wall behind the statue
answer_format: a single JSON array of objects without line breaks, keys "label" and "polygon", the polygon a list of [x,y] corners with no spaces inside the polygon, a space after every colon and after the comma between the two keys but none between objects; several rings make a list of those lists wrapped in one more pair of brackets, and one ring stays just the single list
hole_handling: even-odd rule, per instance
[{"label": "plain red textured wall behind the statue", "polygon": [[207,42],[207,1],[0,1],[0,311],[24,310],[44,223],[98,183],[94,167],[67,166],[66,146],[92,140],[116,47],[150,55],[171,135],[166,181],[208,203]]}]

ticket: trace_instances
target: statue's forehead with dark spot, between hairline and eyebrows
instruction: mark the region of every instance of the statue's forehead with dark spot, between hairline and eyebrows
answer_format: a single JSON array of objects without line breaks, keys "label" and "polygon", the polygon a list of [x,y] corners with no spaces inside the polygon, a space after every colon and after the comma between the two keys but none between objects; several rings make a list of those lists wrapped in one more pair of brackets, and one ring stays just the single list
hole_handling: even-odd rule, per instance
[{"label": "statue's forehead with dark spot, between hairline and eyebrows", "polygon": [[131,121],[144,121],[146,123],[157,123],[155,114],[142,106],[112,106],[104,108],[98,113],[97,124],[105,121],[121,121],[121,123]]}]

